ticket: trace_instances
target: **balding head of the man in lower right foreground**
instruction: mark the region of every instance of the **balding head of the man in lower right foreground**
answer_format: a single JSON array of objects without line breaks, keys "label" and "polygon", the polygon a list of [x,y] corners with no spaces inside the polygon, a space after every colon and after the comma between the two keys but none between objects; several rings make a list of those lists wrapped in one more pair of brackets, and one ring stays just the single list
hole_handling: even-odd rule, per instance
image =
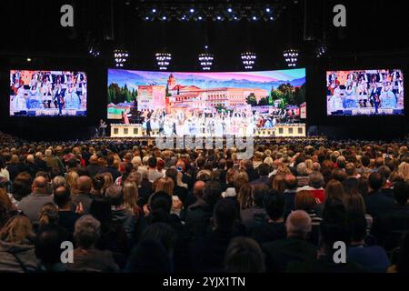
[{"label": "balding head of the man in lower right foreground", "polygon": [[293,211],[285,221],[287,237],[306,239],[312,230],[311,217],[304,210]]}]

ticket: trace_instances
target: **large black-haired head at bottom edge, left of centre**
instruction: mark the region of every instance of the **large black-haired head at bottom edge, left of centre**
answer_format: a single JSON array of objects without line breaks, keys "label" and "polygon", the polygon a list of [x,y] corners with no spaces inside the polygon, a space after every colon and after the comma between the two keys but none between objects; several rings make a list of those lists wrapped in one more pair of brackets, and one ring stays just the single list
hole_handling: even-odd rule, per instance
[{"label": "large black-haired head at bottom edge, left of centre", "polygon": [[165,246],[156,240],[143,240],[135,246],[129,256],[125,272],[169,274],[173,268]]}]

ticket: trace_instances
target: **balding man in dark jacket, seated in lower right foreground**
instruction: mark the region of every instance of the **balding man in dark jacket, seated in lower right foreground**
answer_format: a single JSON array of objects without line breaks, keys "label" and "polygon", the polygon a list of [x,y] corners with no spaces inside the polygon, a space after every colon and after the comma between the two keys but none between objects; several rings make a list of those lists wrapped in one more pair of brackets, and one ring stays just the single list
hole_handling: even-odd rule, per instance
[{"label": "balding man in dark jacket, seated in lower right foreground", "polygon": [[316,246],[306,241],[311,232],[311,217],[306,212],[292,212],[287,217],[285,229],[286,238],[262,246],[267,272],[284,273],[290,262],[304,262],[316,257]]}]

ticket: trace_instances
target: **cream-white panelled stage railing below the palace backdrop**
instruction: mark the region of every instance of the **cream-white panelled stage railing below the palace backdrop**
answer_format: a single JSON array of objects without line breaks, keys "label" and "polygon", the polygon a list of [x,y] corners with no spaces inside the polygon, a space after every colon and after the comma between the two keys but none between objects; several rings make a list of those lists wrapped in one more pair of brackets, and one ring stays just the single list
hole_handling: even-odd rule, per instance
[{"label": "cream-white panelled stage railing below the palace backdrop", "polygon": [[[272,128],[257,129],[254,133],[256,137],[304,137],[306,136],[306,126],[304,124],[280,124]],[[111,125],[111,137],[146,137],[147,133],[142,125]],[[158,130],[152,130],[151,137],[159,136]],[[209,134],[203,133],[196,136],[207,137]],[[217,137],[217,136],[215,136]],[[221,137],[221,136],[219,136]]]}]

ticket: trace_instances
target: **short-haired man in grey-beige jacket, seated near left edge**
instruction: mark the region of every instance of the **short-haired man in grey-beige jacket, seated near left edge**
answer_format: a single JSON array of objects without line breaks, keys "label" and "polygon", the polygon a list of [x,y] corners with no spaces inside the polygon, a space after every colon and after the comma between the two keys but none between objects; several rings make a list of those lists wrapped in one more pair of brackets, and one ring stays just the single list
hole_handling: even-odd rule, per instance
[{"label": "short-haired man in grey-beige jacket, seated near left edge", "polygon": [[32,223],[38,223],[38,213],[46,203],[53,203],[53,197],[48,181],[43,176],[37,176],[32,186],[33,194],[25,196],[17,205]]}]

